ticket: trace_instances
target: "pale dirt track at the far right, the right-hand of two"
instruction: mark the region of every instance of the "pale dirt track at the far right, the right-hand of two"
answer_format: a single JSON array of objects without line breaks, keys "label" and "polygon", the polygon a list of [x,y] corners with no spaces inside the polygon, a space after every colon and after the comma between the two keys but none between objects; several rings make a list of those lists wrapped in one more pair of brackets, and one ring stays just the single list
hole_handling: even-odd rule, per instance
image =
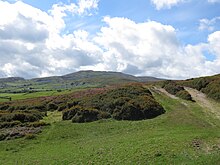
[{"label": "pale dirt track at the far right, the right-hand of two", "polygon": [[191,94],[192,98],[201,106],[214,114],[216,118],[220,119],[220,104],[208,99],[206,95],[196,89],[185,87]]}]

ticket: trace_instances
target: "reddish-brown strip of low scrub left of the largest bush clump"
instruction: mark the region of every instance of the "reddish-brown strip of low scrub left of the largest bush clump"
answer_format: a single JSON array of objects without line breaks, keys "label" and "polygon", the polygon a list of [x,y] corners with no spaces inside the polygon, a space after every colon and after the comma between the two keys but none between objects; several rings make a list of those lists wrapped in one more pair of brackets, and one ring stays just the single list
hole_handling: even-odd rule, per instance
[{"label": "reddish-brown strip of low scrub left of the largest bush clump", "polygon": [[[73,93],[67,93],[58,96],[44,96],[37,98],[29,98],[22,100],[12,100],[10,102],[0,102],[0,110],[8,111],[25,111],[25,110],[37,110],[40,112],[47,111],[63,111],[65,109],[70,109],[78,104],[77,98],[84,98],[87,96],[93,96],[112,89],[109,88],[94,88],[82,91],[76,91]],[[74,101],[76,100],[76,102]]]}]

